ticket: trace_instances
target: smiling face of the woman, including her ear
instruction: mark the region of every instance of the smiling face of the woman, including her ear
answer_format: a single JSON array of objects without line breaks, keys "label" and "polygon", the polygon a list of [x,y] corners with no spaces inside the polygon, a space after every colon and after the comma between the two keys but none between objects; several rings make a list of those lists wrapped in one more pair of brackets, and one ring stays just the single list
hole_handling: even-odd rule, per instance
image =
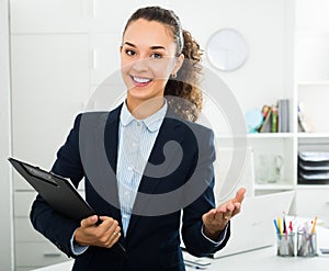
[{"label": "smiling face of the woman, including her ear", "polygon": [[168,26],[139,19],[132,22],[121,47],[122,77],[127,87],[127,101],[138,104],[163,95],[170,75],[183,61]]}]

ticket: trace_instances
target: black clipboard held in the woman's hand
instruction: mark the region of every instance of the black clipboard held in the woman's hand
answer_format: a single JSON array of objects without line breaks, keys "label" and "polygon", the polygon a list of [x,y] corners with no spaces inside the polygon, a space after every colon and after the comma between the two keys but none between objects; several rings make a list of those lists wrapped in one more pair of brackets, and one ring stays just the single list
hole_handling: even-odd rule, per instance
[{"label": "black clipboard held in the woman's hand", "polygon": [[77,222],[95,215],[92,207],[68,179],[14,158],[8,158],[8,160],[58,213]]}]

